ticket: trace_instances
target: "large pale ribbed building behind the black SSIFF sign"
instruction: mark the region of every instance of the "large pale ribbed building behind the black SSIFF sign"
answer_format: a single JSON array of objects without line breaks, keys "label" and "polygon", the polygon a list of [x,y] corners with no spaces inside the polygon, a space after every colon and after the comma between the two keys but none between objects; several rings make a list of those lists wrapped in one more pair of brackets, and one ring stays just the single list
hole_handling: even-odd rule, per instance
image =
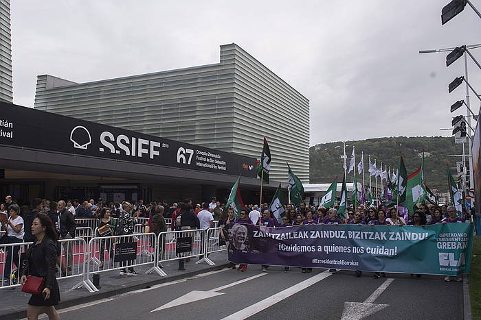
[{"label": "large pale ribbed building behind the black SSIFF sign", "polygon": [[309,100],[232,43],[219,63],[78,84],[37,79],[34,108],[287,165],[309,182]]}]

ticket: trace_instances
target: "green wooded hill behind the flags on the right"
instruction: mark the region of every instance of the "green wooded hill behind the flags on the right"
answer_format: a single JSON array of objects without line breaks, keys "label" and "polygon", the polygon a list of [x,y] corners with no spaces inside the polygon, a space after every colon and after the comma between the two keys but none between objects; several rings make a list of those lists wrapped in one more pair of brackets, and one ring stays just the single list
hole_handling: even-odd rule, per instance
[{"label": "green wooded hill behind the flags on the right", "polygon": [[[390,137],[375,138],[359,141],[346,141],[346,162],[349,166],[350,155],[353,152],[353,145],[356,147],[356,166],[361,160],[361,152],[364,153],[364,171],[366,184],[369,181],[368,155],[371,161],[377,159],[377,167],[383,162],[384,166],[397,169],[399,152],[403,153],[407,173],[410,174],[421,166],[419,153],[425,151],[425,180],[427,186],[438,189],[440,192],[447,192],[446,166],[456,167],[456,161],[461,157],[449,157],[448,155],[461,154],[462,145],[456,145],[451,137]],[[468,153],[467,145],[465,151]],[[338,175],[342,179],[344,169],[342,168],[343,155],[342,142],[322,143],[310,148],[310,180],[311,183],[331,182]],[[429,153],[429,155],[427,154]],[[468,158],[466,158],[468,160]],[[456,175],[456,170],[451,170]],[[353,172],[348,175],[348,182],[352,181]],[[372,177],[374,184],[374,177]],[[362,177],[361,177],[362,180]],[[359,180],[358,180],[359,181]],[[378,178],[379,182],[379,178]]]}]

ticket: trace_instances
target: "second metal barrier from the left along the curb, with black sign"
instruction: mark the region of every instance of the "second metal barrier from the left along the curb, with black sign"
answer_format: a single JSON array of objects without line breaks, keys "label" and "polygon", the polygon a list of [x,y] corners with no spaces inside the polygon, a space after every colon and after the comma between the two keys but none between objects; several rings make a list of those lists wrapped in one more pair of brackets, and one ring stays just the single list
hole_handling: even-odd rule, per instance
[{"label": "second metal barrier from the left along the curb, with black sign", "polygon": [[[155,234],[125,234],[91,238],[88,245],[89,258],[85,281],[93,291],[98,288],[90,281],[91,273],[102,273],[155,263]],[[108,258],[107,258],[108,254]],[[134,258],[135,257],[135,258]],[[91,264],[90,261],[94,263]],[[148,272],[157,271],[150,268]],[[159,275],[162,273],[158,272]]]}]

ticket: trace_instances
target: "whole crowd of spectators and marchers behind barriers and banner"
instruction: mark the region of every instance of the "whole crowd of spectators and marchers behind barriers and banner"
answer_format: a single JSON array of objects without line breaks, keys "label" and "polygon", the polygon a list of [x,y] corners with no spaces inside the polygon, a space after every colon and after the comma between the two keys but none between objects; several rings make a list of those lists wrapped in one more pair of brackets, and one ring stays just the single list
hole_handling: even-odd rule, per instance
[{"label": "whole crowd of spectators and marchers behind barriers and banner", "polygon": [[[402,210],[401,210],[402,209]],[[134,225],[139,217],[143,219],[146,231],[159,234],[167,230],[166,218],[171,219],[171,230],[195,230],[213,227],[213,221],[220,221],[223,235],[227,240],[230,228],[236,223],[249,223],[266,227],[289,227],[293,225],[313,224],[358,224],[358,225],[429,225],[434,223],[461,223],[469,220],[467,214],[460,219],[454,206],[434,206],[419,204],[414,212],[403,208],[385,208],[385,206],[351,206],[346,214],[339,215],[336,208],[309,206],[301,203],[300,206],[287,204],[280,217],[274,217],[267,203],[258,206],[249,204],[235,217],[234,210],[225,210],[224,204],[215,198],[210,202],[193,204],[191,199],[183,199],[178,203],[169,205],[166,201],[150,202],[144,204],[138,201],[123,201],[114,203],[98,199],[94,201],[79,201],[67,199],[49,201],[46,199],[33,199],[30,206],[18,206],[10,195],[5,197],[5,203],[0,204],[1,227],[5,234],[0,238],[1,244],[22,243],[35,241],[32,234],[32,223],[38,214],[45,214],[52,221],[58,239],[75,237],[78,223],[76,219],[98,219],[98,236],[117,236],[133,234]],[[106,243],[100,244],[100,267],[104,264],[104,249]],[[71,244],[63,247],[67,252],[66,263],[60,261],[60,245],[57,245],[56,264],[60,266],[61,275],[70,275],[73,265]],[[8,247],[6,250],[3,281],[10,281],[12,265],[18,259],[19,246]],[[112,248],[107,248],[111,252]],[[12,263],[13,262],[13,263]],[[232,266],[231,264],[231,267]],[[20,266],[16,266],[19,270]],[[18,278],[18,270],[16,278]],[[246,271],[247,265],[240,264],[240,271]],[[267,266],[262,266],[266,271]],[[289,270],[289,267],[286,267]],[[312,269],[302,269],[310,272]],[[137,275],[133,267],[120,269],[120,275]]]}]

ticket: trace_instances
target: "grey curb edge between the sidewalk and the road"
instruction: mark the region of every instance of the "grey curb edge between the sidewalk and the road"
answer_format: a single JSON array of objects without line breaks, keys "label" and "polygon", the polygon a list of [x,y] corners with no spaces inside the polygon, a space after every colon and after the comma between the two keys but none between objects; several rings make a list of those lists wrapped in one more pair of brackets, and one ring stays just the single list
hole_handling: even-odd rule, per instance
[{"label": "grey curb edge between the sidewalk and the road", "polygon": [[[172,275],[170,277],[169,276],[162,277],[159,280],[153,280],[153,281],[151,280],[149,282],[144,282],[142,284],[135,284],[135,286],[116,288],[116,289],[109,290],[109,291],[98,291],[97,293],[91,293],[90,295],[86,295],[85,297],[78,297],[78,298],[75,298],[75,299],[60,301],[58,306],[56,306],[55,308],[56,308],[56,310],[61,310],[61,309],[69,308],[71,306],[78,306],[79,304],[86,304],[87,302],[104,299],[104,298],[107,298],[107,297],[111,297],[113,295],[120,295],[122,293],[127,293],[127,292],[131,292],[131,291],[136,291],[136,290],[139,290],[139,289],[148,288],[148,287],[154,286],[156,284],[161,284],[161,283],[164,283],[164,282],[171,282],[171,281],[180,280],[180,279],[183,279],[183,278],[189,278],[189,277],[192,277],[193,275],[198,275],[199,273],[205,273],[205,272],[209,272],[209,271],[216,271],[216,270],[224,269],[228,265],[229,265],[228,263],[216,264],[213,267],[208,267],[208,268],[205,268],[205,269],[202,269],[202,270],[190,271],[190,272],[182,273],[182,274],[179,274],[179,275]],[[26,318],[26,317],[27,317],[27,305],[25,305],[25,309],[22,309],[22,310],[17,309],[17,310],[14,310],[14,311],[10,312],[10,313],[5,314],[5,315],[1,315],[2,320],[10,320],[10,319],[16,320],[16,319],[23,319],[23,318]]]}]

